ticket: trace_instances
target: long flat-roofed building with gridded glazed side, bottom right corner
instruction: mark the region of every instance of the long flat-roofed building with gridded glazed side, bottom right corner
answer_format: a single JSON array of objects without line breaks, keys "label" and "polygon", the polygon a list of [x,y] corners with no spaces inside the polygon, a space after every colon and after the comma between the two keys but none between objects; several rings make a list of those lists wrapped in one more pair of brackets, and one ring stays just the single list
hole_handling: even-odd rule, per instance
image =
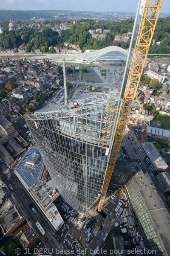
[{"label": "long flat-roofed building with gridded glazed side, bottom right corner", "polygon": [[[142,180],[145,188],[141,185]],[[170,216],[159,194],[156,191],[153,192],[147,173],[144,174],[142,180],[141,176],[136,173],[126,184],[127,193],[143,233],[144,241],[140,242],[139,250],[144,248],[155,250],[151,253],[154,256],[169,255]]]}]

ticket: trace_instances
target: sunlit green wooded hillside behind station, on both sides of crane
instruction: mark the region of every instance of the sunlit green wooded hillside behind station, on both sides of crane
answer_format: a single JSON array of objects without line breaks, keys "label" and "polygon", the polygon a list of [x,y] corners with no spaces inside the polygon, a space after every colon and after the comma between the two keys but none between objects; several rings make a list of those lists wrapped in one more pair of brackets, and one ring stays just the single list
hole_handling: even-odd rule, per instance
[{"label": "sunlit green wooded hillside behind station, on both sides of crane", "polygon": [[[102,49],[111,45],[116,45],[127,49],[129,41],[117,42],[114,41],[115,35],[132,32],[133,19],[123,20],[120,22],[105,22],[96,23],[95,20],[86,20],[86,23],[76,23],[71,29],[65,30],[65,41],[79,44],[79,46],[85,49]],[[92,38],[92,35],[88,33],[89,29],[109,29],[107,38],[96,40]],[[154,44],[150,46],[149,53],[170,53],[170,17],[159,18],[153,39],[160,42],[160,45]]]}]

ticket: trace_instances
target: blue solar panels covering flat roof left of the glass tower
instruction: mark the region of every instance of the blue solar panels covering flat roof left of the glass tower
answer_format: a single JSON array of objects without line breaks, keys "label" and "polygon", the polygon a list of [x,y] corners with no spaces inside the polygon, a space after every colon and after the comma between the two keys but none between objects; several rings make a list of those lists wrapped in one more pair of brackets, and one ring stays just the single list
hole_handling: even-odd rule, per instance
[{"label": "blue solar panels covering flat roof left of the glass tower", "polygon": [[[44,164],[43,160],[41,158],[40,163],[38,164],[36,170],[25,166],[27,159],[31,156],[31,154],[33,154],[35,152],[37,154],[40,154],[40,152],[37,148],[31,147],[29,149],[29,151],[26,153],[26,155],[23,157],[23,159],[20,161],[20,163],[18,163],[18,165],[15,169],[18,172],[18,174],[22,177],[22,179],[24,180],[24,182],[27,184],[27,186],[29,188],[31,188],[31,186],[33,186],[34,183],[36,183],[35,180],[38,180],[42,166]],[[34,176],[32,176],[30,173],[34,173]]]}]

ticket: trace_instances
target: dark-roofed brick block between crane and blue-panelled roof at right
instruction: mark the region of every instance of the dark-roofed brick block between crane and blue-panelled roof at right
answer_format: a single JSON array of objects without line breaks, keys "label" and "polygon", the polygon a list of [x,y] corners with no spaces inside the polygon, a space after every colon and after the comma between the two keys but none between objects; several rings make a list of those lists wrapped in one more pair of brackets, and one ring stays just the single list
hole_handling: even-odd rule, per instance
[{"label": "dark-roofed brick block between crane and blue-panelled roof at right", "polygon": [[143,131],[139,130],[139,128],[136,126],[130,128],[129,135],[135,143],[137,149],[140,148],[140,145],[142,143],[147,142],[146,134]]}]

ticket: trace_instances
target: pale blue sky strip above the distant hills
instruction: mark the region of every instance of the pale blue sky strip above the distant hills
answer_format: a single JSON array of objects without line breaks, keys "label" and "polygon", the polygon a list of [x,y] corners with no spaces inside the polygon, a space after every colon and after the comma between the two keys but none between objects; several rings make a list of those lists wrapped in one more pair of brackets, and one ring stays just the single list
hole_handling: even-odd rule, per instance
[{"label": "pale blue sky strip above the distant hills", "polygon": [[[161,13],[170,12],[168,2],[163,0]],[[137,3],[138,0],[0,0],[0,9],[136,12]]]}]

